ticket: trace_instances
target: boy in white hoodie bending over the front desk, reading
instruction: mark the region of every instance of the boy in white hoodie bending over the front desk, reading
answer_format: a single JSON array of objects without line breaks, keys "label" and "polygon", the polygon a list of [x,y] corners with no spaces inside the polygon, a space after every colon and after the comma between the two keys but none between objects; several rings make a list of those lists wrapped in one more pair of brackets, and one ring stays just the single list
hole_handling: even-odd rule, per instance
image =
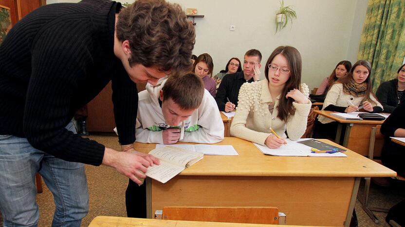
[{"label": "boy in white hoodie bending over the front desk, reading", "polygon": [[[223,140],[223,132],[217,104],[194,73],[148,83],[139,93],[137,142],[213,144]],[[146,218],[145,184],[129,179],[126,204],[128,217]]]}]

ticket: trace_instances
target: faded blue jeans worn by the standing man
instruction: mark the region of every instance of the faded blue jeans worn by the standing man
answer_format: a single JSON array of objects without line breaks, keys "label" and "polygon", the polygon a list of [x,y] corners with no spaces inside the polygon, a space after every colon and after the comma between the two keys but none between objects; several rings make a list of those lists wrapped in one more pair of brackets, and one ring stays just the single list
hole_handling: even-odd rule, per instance
[{"label": "faded blue jeans worn by the standing man", "polygon": [[[66,129],[76,133],[73,122]],[[55,158],[35,149],[25,138],[0,135],[0,210],[4,227],[37,226],[37,172],[54,195],[52,226],[79,227],[89,210],[84,164]]]}]

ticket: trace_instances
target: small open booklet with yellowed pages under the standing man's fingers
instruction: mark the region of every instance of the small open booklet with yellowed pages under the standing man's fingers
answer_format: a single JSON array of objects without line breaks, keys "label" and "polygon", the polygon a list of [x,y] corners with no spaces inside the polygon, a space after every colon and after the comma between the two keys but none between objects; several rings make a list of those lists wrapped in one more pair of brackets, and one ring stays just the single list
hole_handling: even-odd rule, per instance
[{"label": "small open booklet with yellowed pages under the standing man's fingers", "polygon": [[155,148],[149,152],[160,160],[160,165],[147,168],[146,176],[162,183],[174,178],[188,166],[203,159],[203,153],[173,146]]}]

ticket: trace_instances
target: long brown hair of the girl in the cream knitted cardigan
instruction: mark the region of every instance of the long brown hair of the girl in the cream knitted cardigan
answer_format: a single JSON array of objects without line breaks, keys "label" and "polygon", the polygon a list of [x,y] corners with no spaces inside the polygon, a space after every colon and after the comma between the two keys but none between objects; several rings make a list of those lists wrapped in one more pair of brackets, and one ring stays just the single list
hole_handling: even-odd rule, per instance
[{"label": "long brown hair of the girl in the cream knitted cardigan", "polygon": [[269,65],[272,63],[276,55],[281,54],[287,59],[288,68],[290,69],[290,78],[285,83],[284,88],[280,95],[280,102],[278,103],[277,117],[283,121],[287,121],[288,114],[295,114],[293,109],[293,98],[286,98],[285,96],[290,90],[299,89],[301,84],[301,68],[302,60],[301,54],[297,49],[290,46],[280,46],[276,48],[266,62],[264,75],[266,76],[267,83],[269,82]]}]

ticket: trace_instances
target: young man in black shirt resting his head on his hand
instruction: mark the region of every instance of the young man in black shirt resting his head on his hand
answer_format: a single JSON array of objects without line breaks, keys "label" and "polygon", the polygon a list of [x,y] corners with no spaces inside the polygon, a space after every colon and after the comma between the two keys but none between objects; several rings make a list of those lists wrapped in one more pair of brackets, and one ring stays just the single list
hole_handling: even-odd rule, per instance
[{"label": "young man in black shirt resting his head on his hand", "polygon": [[232,112],[238,106],[240,86],[245,82],[260,79],[261,53],[257,49],[248,50],[243,57],[243,71],[223,77],[215,100],[220,111]]}]

